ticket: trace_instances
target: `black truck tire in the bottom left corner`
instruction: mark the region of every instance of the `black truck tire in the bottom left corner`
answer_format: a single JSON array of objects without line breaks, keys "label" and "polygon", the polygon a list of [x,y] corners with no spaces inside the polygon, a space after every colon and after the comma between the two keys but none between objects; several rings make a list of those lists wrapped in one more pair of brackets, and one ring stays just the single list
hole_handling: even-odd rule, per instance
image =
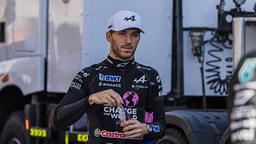
[{"label": "black truck tire in the bottom left corner", "polygon": [[30,144],[24,122],[23,112],[11,114],[3,128],[0,144]]}]

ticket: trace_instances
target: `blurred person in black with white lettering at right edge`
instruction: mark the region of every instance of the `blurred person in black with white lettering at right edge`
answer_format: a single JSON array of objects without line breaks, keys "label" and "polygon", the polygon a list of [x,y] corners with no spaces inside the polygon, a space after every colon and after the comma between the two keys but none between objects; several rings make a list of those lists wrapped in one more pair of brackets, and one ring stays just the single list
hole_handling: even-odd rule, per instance
[{"label": "blurred person in black with white lettering at right edge", "polygon": [[229,117],[232,144],[256,143],[256,51],[239,60],[230,83]]}]

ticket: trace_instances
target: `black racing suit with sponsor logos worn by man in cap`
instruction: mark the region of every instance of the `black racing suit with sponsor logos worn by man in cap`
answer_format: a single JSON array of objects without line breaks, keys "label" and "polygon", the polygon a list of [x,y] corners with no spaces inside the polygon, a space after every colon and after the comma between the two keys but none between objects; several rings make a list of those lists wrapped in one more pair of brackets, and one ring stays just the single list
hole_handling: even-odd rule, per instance
[{"label": "black racing suit with sponsor logos worn by man in cap", "polygon": [[[92,106],[89,95],[112,89],[123,98],[123,107],[107,104]],[[165,129],[161,81],[156,70],[134,60],[120,62],[110,56],[99,64],[81,70],[71,82],[68,92],[55,111],[56,127],[66,127],[85,112],[89,120],[89,144],[142,144],[143,140],[129,140],[124,135],[121,121],[137,119],[145,122],[146,114],[153,114],[147,123],[153,131],[144,139],[162,136]]]}]

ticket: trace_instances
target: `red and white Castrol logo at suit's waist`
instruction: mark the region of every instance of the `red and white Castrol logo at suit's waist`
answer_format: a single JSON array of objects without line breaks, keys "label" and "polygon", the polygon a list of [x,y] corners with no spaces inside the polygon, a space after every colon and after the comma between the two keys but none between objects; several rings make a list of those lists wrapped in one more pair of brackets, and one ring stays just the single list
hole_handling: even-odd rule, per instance
[{"label": "red and white Castrol logo at suit's waist", "polygon": [[124,133],[120,132],[111,132],[107,130],[95,129],[94,130],[95,137],[106,137],[106,138],[116,138],[116,139],[127,139],[127,136]]}]

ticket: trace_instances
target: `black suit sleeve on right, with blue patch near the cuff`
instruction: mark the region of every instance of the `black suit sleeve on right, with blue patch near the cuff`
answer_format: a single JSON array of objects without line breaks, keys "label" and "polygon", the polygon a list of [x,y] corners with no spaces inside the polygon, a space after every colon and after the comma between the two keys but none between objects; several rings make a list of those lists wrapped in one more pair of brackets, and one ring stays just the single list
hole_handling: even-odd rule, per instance
[{"label": "black suit sleeve on right, with blue patch near the cuff", "polygon": [[164,114],[164,100],[161,96],[162,84],[157,71],[154,71],[153,78],[150,81],[149,97],[147,98],[147,112],[151,114],[152,121],[149,125],[152,132],[146,135],[147,139],[156,139],[164,135],[166,129],[166,121]]}]

